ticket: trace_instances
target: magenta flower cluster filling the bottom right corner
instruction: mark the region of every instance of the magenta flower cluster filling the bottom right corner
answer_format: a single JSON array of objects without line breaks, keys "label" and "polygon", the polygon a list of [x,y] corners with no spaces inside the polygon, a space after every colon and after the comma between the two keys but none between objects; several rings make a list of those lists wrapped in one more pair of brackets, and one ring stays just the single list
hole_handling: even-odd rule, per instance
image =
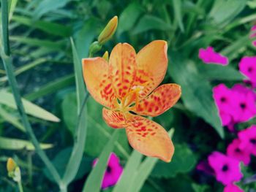
[{"label": "magenta flower cluster filling the bottom right corner", "polygon": [[207,162],[201,162],[197,169],[213,174],[225,185],[224,192],[241,192],[234,183],[241,180],[240,164],[249,165],[251,155],[256,155],[256,125],[238,132],[238,138],[227,146],[226,154],[214,151],[208,156]]}]

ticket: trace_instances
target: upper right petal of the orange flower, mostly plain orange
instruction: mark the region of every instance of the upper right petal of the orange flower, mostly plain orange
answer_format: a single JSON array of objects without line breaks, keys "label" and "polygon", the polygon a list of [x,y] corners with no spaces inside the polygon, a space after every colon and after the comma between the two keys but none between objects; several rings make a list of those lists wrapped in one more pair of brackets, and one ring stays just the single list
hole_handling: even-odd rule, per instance
[{"label": "upper right petal of the orange flower, mostly plain orange", "polygon": [[137,54],[138,71],[134,85],[143,88],[139,98],[145,98],[162,82],[167,70],[167,42],[156,40]]}]

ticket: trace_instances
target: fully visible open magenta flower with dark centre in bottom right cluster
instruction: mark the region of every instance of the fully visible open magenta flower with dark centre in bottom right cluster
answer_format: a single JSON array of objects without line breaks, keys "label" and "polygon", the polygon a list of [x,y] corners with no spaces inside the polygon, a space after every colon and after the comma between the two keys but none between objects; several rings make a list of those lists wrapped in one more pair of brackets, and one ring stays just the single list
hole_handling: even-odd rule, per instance
[{"label": "fully visible open magenta flower with dark centre in bottom right cluster", "polygon": [[208,156],[208,162],[212,169],[214,169],[216,179],[223,183],[223,185],[239,181],[243,177],[239,161],[234,158],[216,151]]}]

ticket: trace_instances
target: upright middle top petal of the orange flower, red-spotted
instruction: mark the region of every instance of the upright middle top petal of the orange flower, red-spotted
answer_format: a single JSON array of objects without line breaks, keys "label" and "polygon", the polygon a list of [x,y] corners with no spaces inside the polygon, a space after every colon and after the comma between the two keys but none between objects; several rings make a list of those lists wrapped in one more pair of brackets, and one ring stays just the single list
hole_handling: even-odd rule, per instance
[{"label": "upright middle top petal of the orange flower, red-spotted", "polygon": [[119,43],[113,48],[109,64],[110,78],[118,99],[122,100],[129,93],[136,75],[136,53],[127,43]]}]

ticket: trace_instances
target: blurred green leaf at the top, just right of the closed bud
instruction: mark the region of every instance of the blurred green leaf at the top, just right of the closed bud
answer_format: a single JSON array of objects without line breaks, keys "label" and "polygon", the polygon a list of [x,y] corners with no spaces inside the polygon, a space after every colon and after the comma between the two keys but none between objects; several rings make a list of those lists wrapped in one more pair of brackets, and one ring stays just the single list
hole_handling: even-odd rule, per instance
[{"label": "blurred green leaf at the top, just right of the closed bud", "polygon": [[125,31],[131,30],[138,18],[143,12],[143,8],[138,2],[132,2],[129,4],[119,17],[117,34],[121,34]]}]

